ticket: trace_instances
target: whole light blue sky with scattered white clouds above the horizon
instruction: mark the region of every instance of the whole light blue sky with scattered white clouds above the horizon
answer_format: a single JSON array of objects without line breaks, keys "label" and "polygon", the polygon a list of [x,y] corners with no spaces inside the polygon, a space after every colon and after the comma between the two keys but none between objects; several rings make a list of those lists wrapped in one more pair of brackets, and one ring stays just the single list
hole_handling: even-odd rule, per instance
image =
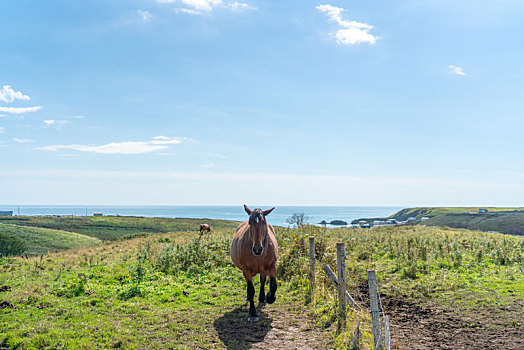
[{"label": "whole light blue sky with scattered white clouds above the horizon", "polygon": [[524,4],[5,0],[5,204],[522,205]]}]

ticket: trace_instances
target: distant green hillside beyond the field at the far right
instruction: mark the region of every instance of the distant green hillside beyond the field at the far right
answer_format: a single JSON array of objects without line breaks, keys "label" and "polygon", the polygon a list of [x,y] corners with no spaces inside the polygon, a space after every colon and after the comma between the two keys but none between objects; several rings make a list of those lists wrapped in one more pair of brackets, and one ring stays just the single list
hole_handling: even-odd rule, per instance
[{"label": "distant green hillside beyond the field at the far right", "polygon": [[524,235],[524,213],[522,214],[446,214],[424,222],[428,226],[447,226],[470,230],[497,231]]}]

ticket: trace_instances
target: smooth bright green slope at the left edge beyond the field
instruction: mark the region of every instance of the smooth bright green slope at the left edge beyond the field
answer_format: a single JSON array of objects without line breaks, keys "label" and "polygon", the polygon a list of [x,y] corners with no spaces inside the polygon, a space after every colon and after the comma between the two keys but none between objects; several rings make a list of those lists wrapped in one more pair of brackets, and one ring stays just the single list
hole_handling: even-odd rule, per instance
[{"label": "smooth bright green slope at the left edge beyond the field", "polygon": [[26,245],[26,254],[46,254],[101,244],[97,238],[77,233],[0,223],[0,233],[15,236]]}]

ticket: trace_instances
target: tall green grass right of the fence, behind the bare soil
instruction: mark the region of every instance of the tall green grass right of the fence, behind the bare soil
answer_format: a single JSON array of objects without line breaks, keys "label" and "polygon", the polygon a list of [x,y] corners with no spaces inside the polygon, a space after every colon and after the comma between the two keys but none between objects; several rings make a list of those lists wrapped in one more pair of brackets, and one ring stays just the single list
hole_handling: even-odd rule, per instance
[{"label": "tall green grass right of the fence, behind the bare soil", "polygon": [[367,269],[374,269],[385,294],[501,317],[507,307],[524,307],[524,237],[400,226],[334,229],[324,240],[331,247],[324,253],[330,266],[335,266],[334,243],[345,242],[350,278],[365,281]]}]

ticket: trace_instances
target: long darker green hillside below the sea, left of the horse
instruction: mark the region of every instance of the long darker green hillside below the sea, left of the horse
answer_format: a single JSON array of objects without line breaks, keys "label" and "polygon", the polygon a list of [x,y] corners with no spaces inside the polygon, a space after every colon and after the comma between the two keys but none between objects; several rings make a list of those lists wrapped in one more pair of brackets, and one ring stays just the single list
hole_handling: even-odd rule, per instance
[{"label": "long darker green hillside below the sea, left of the horse", "polygon": [[115,241],[120,238],[142,234],[197,231],[201,223],[209,223],[213,229],[233,229],[239,224],[236,221],[229,220],[169,219],[135,216],[11,216],[0,217],[0,223],[76,232],[96,237],[103,241]]}]

